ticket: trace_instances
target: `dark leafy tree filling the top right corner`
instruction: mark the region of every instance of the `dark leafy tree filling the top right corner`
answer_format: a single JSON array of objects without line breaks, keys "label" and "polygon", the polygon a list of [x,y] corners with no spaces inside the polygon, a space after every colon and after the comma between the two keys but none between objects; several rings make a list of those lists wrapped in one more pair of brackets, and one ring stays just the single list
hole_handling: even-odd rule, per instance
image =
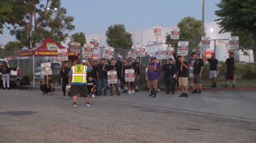
[{"label": "dark leafy tree filling the top right corner", "polygon": [[[252,49],[255,62],[256,1],[220,0],[220,3],[216,5],[220,9],[215,11],[215,15],[220,17],[215,20],[221,28],[219,33],[231,32],[233,36],[239,36],[239,45],[246,49]],[[248,39],[244,40],[243,38]]]}]

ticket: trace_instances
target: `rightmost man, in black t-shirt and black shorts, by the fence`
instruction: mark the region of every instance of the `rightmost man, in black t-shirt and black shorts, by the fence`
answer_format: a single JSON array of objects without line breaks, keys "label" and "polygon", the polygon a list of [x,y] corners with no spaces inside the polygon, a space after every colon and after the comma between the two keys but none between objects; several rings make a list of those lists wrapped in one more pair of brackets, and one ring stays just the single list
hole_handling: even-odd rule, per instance
[{"label": "rightmost man, in black t-shirt and black shorts, by the fence", "polygon": [[229,58],[226,59],[225,63],[225,73],[227,78],[227,84],[225,85],[225,88],[229,86],[229,80],[233,80],[232,88],[235,88],[235,61],[232,52],[229,52]]}]

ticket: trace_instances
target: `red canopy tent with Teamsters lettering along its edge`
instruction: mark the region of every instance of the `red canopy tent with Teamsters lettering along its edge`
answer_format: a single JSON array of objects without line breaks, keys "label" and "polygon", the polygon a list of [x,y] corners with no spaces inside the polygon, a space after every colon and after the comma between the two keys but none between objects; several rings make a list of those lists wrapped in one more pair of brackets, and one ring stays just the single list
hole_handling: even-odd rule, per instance
[{"label": "red canopy tent with Teamsters lettering along its edge", "polygon": [[[45,38],[40,43],[38,43],[35,47],[31,49],[27,49],[24,51],[18,52],[18,57],[30,57],[33,56],[33,87],[35,87],[35,61],[34,57],[36,56],[58,56],[58,49],[66,49],[62,45],[58,44],[50,37]],[[70,49],[67,49],[68,59],[73,63],[75,59],[79,57],[79,53],[73,53]],[[18,59],[19,60],[19,59]]]}]

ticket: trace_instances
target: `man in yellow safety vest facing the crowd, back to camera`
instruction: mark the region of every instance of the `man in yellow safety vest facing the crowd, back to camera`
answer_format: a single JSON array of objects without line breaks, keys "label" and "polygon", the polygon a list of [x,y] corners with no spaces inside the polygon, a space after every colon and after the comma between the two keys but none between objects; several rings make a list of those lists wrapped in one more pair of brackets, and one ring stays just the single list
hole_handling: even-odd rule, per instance
[{"label": "man in yellow safety vest facing the crowd, back to camera", "polygon": [[88,66],[83,65],[81,58],[76,60],[76,65],[71,67],[68,74],[68,83],[71,85],[70,93],[73,96],[73,107],[76,107],[76,98],[79,93],[80,97],[84,97],[86,101],[86,106],[90,107],[87,89],[87,72],[92,71],[92,66],[86,60]]}]

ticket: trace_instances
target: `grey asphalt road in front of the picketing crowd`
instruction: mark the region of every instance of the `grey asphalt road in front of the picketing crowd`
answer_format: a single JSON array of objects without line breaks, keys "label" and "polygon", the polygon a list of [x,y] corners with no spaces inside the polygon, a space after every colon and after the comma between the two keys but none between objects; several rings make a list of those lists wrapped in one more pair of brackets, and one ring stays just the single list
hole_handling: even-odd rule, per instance
[{"label": "grey asphalt road in front of the picketing crowd", "polygon": [[[0,142],[256,142],[253,93],[217,94],[223,104],[231,105],[223,112],[221,107],[228,106],[217,104],[221,100],[214,100],[211,92],[189,98],[159,94],[153,99],[145,92],[99,96],[90,98],[91,107],[78,98],[73,108],[73,101],[58,93],[43,96],[38,91],[0,89]],[[245,107],[235,112],[235,105]],[[254,112],[242,112],[250,105]],[[219,110],[214,111],[217,115],[208,109],[213,107]],[[200,108],[205,110],[199,112]],[[226,115],[232,108],[232,115]]]}]

